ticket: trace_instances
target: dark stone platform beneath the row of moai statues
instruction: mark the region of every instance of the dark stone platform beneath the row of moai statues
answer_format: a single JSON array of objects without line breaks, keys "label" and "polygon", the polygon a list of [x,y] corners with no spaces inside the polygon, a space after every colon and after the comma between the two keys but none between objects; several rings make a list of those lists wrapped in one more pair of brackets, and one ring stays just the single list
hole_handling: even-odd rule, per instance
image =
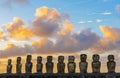
[{"label": "dark stone platform beneath the row of moai statues", "polygon": [[120,73],[65,73],[65,74],[57,74],[57,73],[32,73],[32,74],[0,74],[0,78],[120,78]]}]

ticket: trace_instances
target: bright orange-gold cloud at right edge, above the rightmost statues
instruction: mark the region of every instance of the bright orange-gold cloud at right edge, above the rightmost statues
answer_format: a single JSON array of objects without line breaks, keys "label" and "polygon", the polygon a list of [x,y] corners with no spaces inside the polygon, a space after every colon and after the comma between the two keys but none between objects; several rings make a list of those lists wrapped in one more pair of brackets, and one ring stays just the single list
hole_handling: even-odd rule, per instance
[{"label": "bright orange-gold cloud at right edge, above the rightmost statues", "polygon": [[110,26],[100,26],[103,37],[90,48],[91,51],[104,53],[108,51],[120,50],[120,28]]}]

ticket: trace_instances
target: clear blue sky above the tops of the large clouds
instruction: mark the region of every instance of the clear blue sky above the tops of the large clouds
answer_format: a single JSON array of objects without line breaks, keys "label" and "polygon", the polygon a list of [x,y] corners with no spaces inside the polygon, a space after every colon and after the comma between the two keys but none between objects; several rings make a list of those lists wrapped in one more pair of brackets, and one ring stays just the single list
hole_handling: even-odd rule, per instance
[{"label": "clear blue sky above the tops of the large clouds", "polygon": [[[119,27],[120,16],[116,12],[116,5],[119,0],[28,0],[28,3],[11,3],[11,6],[3,5],[7,0],[0,1],[0,25],[12,21],[17,16],[29,23],[34,18],[36,8],[47,6],[55,8],[60,13],[70,16],[71,22],[75,26],[75,31],[80,31],[81,27],[91,28],[101,34],[100,25]],[[98,21],[98,22],[96,22]]]}]

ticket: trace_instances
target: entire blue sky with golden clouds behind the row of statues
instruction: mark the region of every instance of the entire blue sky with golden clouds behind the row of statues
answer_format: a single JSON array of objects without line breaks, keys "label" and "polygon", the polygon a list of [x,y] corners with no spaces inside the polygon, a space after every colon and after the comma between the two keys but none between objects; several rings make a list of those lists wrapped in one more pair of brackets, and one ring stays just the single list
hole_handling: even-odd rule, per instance
[{"label": "entire blue sky with golden clouds behind the row of statues", "polygon": [[114,54],[120,62],[119,52],[120,0],[0,0],[2,73],[8,58],[16,64],[16,57],[21,56],[25,63],[28,54],[33,55],[34,64],[38,55],[43,63],[48,55],[55,63],[59,55],[66,57],[66,63],[67,56],[74,55],[78,63],[84,53],[91,63],[92,55],[99,54],[101,71],[107,71],[107,56]]}]

